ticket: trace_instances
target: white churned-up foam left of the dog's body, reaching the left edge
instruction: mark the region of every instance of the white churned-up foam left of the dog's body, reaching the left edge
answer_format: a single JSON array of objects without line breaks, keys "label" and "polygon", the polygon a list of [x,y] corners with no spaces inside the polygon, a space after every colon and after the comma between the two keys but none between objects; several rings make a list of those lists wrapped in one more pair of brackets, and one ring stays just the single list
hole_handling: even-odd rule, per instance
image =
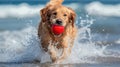
[{"label": "white churned-up foam left of the dog's body, reaching the left edge", "polygon": [[33,27],[0,33],[0,46],[0,62],[32,61],[40,55],[36,29]]}]

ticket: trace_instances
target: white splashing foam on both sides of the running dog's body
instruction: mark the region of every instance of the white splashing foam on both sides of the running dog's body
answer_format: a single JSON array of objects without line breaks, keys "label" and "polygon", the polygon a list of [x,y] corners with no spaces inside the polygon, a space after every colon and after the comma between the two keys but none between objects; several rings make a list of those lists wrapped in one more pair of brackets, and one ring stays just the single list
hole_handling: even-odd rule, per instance
[{"label": "white splashing foam on both sides of the running dog's body", "polygon": [[[87,15],[87,17],[89,17]],[[71,55],[63,63],[97,63],[91,57],[120,57],[119,51],[107,51],[108,46],[98,46],[92,42],[90,26],[93,19],[80,18],[81,27],[74,43]],[[19,31],[4,31],[0,33],[0,62],[26,62],[35,59],[41,63],[49,62],[50,57],[39,47],[37,28],[27,26]],[[118,54],[118,55],[116,55]]]}]

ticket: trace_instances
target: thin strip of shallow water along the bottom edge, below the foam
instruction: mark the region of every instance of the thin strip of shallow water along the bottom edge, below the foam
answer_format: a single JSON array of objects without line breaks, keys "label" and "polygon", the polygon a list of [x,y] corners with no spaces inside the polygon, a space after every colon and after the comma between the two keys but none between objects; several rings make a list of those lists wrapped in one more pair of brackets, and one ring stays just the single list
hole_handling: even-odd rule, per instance
[{"label": "thin strip of shallow water along the bottom edge, below the foam", "polygon": [[99,64],[50,64],[50,63],[21,63],[21,64],[0,64],[0,67],[119,67],[119,63],[99,63]]}]

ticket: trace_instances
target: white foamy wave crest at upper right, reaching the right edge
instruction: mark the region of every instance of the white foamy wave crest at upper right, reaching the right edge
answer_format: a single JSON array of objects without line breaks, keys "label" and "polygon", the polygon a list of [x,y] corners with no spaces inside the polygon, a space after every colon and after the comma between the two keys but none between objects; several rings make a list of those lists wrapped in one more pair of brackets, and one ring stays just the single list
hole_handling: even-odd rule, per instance
[{"label": "white foamy wave crest at upper right, reaching the right edge", "polygon": [[92,2],[86,5],[85,10],[90,15],[120,17],[120,4],[110,5],[100,2]]}]

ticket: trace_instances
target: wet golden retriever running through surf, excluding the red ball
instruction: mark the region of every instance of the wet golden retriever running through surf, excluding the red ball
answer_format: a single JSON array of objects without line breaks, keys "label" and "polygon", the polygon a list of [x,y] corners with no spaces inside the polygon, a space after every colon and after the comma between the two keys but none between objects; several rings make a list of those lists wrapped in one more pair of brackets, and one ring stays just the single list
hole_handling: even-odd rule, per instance
[{"label": "wet golden retriever running through surf, excluding the red ball", "polygon": [[[63,0],[51,0],[40,11],[41,22],[38,28],[38,36],[45,52],[50,54],[54,63],[62,62],[71,53],[77,29],[75,26],[75,12],[62,5]],[[52,24],[65,27],[60,35],[51,31]]]}]

